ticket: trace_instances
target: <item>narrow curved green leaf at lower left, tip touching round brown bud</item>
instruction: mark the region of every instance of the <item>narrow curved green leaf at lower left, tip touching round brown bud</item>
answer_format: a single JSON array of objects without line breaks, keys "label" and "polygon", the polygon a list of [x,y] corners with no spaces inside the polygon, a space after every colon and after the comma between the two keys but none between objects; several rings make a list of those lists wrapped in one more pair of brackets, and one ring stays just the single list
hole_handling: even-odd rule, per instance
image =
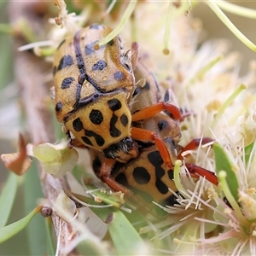
[{"label": "narrow curved green leaf at lower left, tip touching round brown bud", "polygon": [[8,240],[10,237],[15,236],[20,230],[23,230],[27,224],[32,220],[32,218],[40,212],[41,207],[36,207],[32,210],[26,217],[21,218],[13,224],[9,224],[0,229],[0,243]]}]

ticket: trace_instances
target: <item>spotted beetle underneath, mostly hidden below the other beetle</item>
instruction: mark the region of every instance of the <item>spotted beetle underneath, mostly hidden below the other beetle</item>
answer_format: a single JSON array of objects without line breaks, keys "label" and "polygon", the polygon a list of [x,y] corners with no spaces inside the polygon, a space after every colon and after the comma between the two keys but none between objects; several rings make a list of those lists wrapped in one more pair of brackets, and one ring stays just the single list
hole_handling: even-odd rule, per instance
[{"label": "spotted beetle underneath, mostly hidden below the other beetle", "polygon": [[[161,101],[160,88],[154,79],[154,74],[148,71],[144,65],[143,59],[137,60],[137,66],[134,68],[135,78],[144,79],[143,83],[138,85],[134,91],[131,111],[137,113],[141,108],[155,104]],[[169,91],[166,91],[165,99],[169,99]],[[186,113],[184,113],[186,114]],[[202,139],[193,139],[184,148],[178,143],[181,139],[180,124],[177,120],[172,119],[168,113],[160,112],[151,119],[133,122],[132,125],[140,129],[156,132],[166,148],[172,163],[175,160],[183,160],[182,153],[187,150],[195,149],[200,144],[211,143],[212,139],[203,137]],[[128,195],[128,201],[137,204],[137,202],[146,206],[150,212],[161,212],[159,207],[155,207],[152,201],[161,205],[173,205],[177,202],[177,188],[173,181],[173,166],[166,166],[159,148],[148,141],[136,141],[139,155],[126,163],[116,162],[110,173],[110,178],[119,183],[119,189]],[[103,156],[95,149],[89,148],[92,167],[97,177],[101,177]],[[206,177],[210,182],[218,184],[218,179],[213,172],[210,172],[201,166],[195,166],[193,163],[185,163],[193,177]],[[121,189],[120,189],[121,188]],[[169,190],[169,189],[172,189]]]}]

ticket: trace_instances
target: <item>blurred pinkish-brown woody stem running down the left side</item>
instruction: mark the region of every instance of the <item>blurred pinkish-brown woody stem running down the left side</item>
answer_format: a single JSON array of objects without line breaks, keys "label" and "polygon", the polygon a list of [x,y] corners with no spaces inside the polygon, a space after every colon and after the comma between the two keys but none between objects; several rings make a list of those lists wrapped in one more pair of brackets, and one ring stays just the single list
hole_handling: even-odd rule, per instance
[{"label": "blurred pinkish-brown woody stem running down the left side", "polygon": [[[11,23],[15,24],[21,17],[26,18],[28,24],[31,24],[32,30],[44,32],[42,17],[38,15],[38,6],[42,2],[9,2],[9,18]],[[41,8],[39,8],[41,9]],[[42,9],[41,9],[42,10]],[[33,12],[34,11],[34,12]],[[38,30],[38,28],[40,28]],[[33,55],[32,52],[17,52],[17,48],[24,44],[22,38],[15,38],[15,79],[20,89],[20,100],[25,109],[26,129],[33,144],[52,142],[53,125],[52,116],[49,108],[46,106],[46,99],[49,97],[49,90],[44,83],[45,63],[44,60]],[[46,66],[46,70],[50,67]],[[54,178],[44,173],[41,166],[38,165],[41,184],[44,190],[44,196],[49,201],[55,201],[61,189],[66,189],[67,184],[63,178]],[[70,242],[70,235],[73,234],[72,225],[68,224],[53,213],[52,221],[56,236],[59,236],[61,230],[61,245],[67,246]]]}]

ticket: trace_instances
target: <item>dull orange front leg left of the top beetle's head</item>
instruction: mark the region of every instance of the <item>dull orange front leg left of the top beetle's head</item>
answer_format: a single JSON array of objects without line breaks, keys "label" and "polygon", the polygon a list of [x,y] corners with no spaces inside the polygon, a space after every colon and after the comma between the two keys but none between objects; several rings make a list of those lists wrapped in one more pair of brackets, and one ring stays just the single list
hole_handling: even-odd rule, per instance
[{"label": "dull orange front leg left of the top beetle's head", "polygon": [[101,178],[102,181],[105,182],[110,189],[113,191],[121,191],[127,196],[131,196],[132,192],[129,189],[126,189],[124,186],[116,182],[112,177],[111,177],[111,171],[113,169],[113,165],[115,164],[116,160],[113,159],[104,159],[102,162],[102,168],[101,168]]}]

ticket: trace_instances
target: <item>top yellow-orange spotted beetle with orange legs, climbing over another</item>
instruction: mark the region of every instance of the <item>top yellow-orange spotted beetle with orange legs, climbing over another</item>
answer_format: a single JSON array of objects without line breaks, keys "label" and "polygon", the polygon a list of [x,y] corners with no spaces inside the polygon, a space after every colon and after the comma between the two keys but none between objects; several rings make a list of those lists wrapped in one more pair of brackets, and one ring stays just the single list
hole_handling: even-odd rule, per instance
[{"label": "top yellow-orange spotted beetle with orange legs, climbing over another", "polygon": [[61,42],[54,56],[53,100],[69,146],[93,148],[103,154],[100,176],[118,190],[122,187],[109,177],[110,173],[116,161],[125,163],[137,158],[137,141],[155,143],[166,166],[172,166],[160,135],[132,123],[150,119],[162,110],[177,120],[182,120],[183,115],[166,102],[155,102],[131,114],[130,104],[137,88],[133,73],[136,61],[131,50],[125,51],[119,36],[94,49],[111,31],[108,26],[93,24]]}]

